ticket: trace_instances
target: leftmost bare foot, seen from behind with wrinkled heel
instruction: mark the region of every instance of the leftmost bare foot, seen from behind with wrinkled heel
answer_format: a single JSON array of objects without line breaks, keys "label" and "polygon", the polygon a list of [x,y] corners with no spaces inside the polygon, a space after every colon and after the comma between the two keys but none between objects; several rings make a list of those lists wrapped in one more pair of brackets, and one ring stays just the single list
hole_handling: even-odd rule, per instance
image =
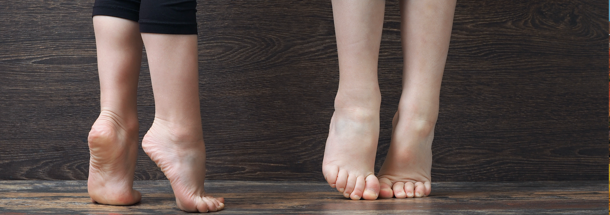
[{"label": "leftmost bare foot, seen from behind with wrinkled heel", "polygon": [[91,200],[104,205],[140,202],[140,192],[133,189],[138,152],[137,118],[121,118],[102,110],[91,126],[88,142],[91,158],[87,189]]}]

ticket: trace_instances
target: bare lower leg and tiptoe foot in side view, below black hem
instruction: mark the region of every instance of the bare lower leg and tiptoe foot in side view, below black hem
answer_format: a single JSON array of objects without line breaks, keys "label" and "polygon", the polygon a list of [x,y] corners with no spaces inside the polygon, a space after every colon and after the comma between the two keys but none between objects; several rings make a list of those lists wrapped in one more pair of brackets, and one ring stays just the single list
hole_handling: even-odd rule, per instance
[{"label": "bare lower leg and tiptoe foot in side view, below black hem", "polygon": [[155,118],[142,148],[170,180],[181,210],[224,208],[206,196],[206,146],[201,131],[197,35],[142,33],[151,70]]}]

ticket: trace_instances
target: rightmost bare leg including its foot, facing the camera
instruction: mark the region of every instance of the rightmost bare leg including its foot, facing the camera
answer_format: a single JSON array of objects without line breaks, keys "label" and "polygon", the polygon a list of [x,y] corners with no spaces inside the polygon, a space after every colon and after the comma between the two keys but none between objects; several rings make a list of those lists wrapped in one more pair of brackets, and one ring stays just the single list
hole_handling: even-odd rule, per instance
[{"label": "rightmost bare leg including its foot, facing the camera", "polygon": [[432,138],[455,4],[455,0],[400,2],[403,93],[393,119],[390,149],[378,174],[381,198],[430,194]]}]

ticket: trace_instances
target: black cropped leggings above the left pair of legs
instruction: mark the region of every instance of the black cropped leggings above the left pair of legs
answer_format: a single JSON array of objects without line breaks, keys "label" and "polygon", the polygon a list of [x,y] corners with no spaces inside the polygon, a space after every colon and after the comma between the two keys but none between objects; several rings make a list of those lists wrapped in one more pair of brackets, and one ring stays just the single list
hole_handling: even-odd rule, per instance
[{"label": "black cropped leggings above the left pair of legs", "polygon": [[95,0],[93,16],[131,19],[142,33],[196,35],[196,0]]}]

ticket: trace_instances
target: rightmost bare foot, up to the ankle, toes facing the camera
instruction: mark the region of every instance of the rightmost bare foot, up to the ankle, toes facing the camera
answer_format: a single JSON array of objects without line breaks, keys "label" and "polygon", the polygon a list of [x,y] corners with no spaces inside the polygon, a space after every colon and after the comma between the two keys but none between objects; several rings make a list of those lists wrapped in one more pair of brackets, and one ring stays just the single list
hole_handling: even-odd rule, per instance
[{"label": "rightmost bare foot, up to the ankle, toes facing the camera", "polygon": [[432,138],[436,121],[413,120],[396,112],[392,141],[379,170],[380,198],[425,197],[431,192]]}]

